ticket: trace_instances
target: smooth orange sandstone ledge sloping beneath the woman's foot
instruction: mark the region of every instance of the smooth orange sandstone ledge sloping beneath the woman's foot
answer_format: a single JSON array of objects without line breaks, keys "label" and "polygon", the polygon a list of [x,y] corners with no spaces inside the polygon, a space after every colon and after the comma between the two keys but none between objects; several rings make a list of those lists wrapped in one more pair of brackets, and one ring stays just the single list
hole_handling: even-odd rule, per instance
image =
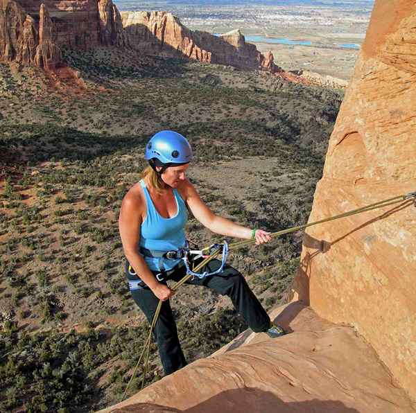
[{"label": "smooth orange sandstone ledge sloping beneath the woman's foot", "polygon": [[354,328],[326,322],[300,304],[273,316],[291,334],[243,333],[103,412],[415,412]]}]

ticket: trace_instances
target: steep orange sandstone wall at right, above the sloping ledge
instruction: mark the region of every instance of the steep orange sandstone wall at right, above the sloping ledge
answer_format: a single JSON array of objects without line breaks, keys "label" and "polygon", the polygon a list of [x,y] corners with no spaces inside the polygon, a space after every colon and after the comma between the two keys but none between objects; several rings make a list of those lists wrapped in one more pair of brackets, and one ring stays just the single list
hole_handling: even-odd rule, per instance
[{"label": "steep orange sandstone wall at right, above the sloping ledge", "polygon": [[[311,222],[416,191],[415,27],[415,1],[376,1]],[[403,202],[306,232],[293,299],[356,327],[416,398],[416,208]]]}]

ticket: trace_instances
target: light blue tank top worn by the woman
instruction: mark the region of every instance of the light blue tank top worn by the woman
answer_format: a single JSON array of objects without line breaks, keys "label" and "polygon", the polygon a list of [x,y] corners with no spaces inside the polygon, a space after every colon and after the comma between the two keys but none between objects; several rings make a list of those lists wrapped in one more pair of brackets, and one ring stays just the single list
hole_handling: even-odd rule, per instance
[{"label": "light blue tank top worn by the woman", "polygon": [[[173,189],[177,213],[172,218],[162,217],[155,208],[144,180],[140,180],[146,197],[146,219],[141,223],[139,247],[156,251],[172,251],[183,248],[186,243],[184,227],[188,220],[188,210],[177,190]],[[171,270],[181,260],[144,257],[144,261],[153,271]]]}]

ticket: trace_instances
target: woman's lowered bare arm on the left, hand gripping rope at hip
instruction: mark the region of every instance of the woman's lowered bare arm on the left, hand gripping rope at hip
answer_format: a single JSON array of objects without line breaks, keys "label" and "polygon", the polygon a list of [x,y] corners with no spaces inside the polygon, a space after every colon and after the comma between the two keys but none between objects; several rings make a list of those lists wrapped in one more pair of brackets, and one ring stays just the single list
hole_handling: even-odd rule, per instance
[{"label": "woman's lowered bare arm on the left, hand gripping rope at hip", "polygon": [[141,202],[136,195],[128,193],[125,195],[121,204],[119,216],[119,231],[121,243],[123,243],[123,251],[125,258],[139,274],[140,278],[153,291],[155,296],[162,301],[172,297],[175,292],[168,288],[167,285],[159,283],[152,272],[149,270],[143,256],[137,252],[139,245],[141,225]]}]

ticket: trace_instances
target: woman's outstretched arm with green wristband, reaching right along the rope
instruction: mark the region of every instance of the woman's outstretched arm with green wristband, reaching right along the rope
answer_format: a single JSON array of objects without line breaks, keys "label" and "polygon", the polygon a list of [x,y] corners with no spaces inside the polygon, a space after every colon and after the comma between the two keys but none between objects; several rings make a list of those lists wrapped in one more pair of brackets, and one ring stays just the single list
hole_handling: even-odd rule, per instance
[{"label": "woman's outstretched arm with green wristband, reaching right along the rope", "polygon": [[[198,192],[191,182],[184,182],[184,185],[181,188],[181,193],[183,193],[193,216],[210,231],[224,236],[231,236],[233,238],[252,238],[252,229],[243,227],[242,225],[236,224],[226,218],[215,215],[214,212],[209,209],[207,204],[201,200]],[[270,233],[263,231],[262,229],[257,229],[255,231],[255,238],[256,244],[267,243],[272,239],[270,237]]]}]

